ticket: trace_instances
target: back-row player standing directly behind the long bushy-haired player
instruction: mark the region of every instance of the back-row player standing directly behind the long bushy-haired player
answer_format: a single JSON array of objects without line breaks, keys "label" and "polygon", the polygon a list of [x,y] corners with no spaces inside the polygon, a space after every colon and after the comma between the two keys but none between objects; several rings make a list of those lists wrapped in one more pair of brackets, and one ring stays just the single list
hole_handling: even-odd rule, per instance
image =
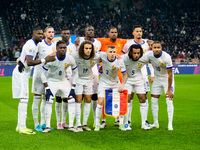
[{"label": "back-row player standing directly behind the long bushy-haired player", "polygon": [[[79,41],[77,41],[77,40],[79,40]],[[86,41],[86,40],[92,42],[96,53],[98,53],[101,49],[101,42],[99,42],[97,39],[94,38],[94,27],[93,26],[87,26],[85,28],[85,37],[79,37],[79,38],[77,38],[77,40],[76,40],[77,45],[78,45],[78,43],[81,44],[83,41]],[[97,107],[97,100],[98,100],[97,89],[98,89],[98,85],[99,85],[99,72],[98,72],[97,64],[95,64],[94,67],[92,68],[92,72],[93,72],[93,79],[94,79],[94,94],[92,95],[92,109],[93,109],[94,125],[95,125],[96,107]]]}]

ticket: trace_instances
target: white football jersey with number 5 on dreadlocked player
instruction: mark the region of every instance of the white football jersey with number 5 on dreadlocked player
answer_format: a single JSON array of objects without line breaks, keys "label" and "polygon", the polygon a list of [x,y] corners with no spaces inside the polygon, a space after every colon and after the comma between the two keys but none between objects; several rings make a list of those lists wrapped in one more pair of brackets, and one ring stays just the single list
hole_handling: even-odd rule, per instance
[{"label": "white football jersey with number 5 on dreadlocked player", "polygon": [[124,61],[128,74],[127,83],[144,83],[141,68],[145,65],[145,63],[140,61],[140,59],[142,58],[140,58],[138,61],[134,61],[131,58],[129,58],[128,54],[122,55],[121,57]]}]

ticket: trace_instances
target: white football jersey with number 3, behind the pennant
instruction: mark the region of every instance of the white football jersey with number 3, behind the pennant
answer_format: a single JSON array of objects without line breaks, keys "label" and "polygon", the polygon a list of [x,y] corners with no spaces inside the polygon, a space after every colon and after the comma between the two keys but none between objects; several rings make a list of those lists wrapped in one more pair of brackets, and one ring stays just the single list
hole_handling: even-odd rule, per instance
[{"label": "white football jersey with number 3, behind the pennant", "polygon": [[101,74],[100,82],[105,82],[108,85],[116,84],[116,82],[120,83],[118,70],[120,69],[122,73],[126,72],[124,61],[117,59],[117,57],[115,60],[109,61],[106,52],[101,52],[100,57],[103,63],[103,73]]}]

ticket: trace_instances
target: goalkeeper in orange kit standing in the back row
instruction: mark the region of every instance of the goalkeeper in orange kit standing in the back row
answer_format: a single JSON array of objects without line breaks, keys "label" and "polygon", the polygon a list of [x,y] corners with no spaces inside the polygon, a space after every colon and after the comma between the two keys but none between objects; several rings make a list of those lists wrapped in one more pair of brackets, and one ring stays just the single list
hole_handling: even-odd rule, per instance
[{"label": "goalkeeper in orange kit standing in the back row", "polygon": [[[99,38],[101,42],[101,52],[107,52],[107,48],[109,45],[114,45],[116,47],[116,54],[121,55],[124,54],[122,51],[122,48],[124,44],[127,42],[127,40],[124,39],[119,39],[118,37],[118,31],[117,28],[111,27],[108,32],[109,38]],[[119,71],[118,76],[120,79],[120,82],[122,82],[122,73]],[[115,125],[119,125],[119,120],[115,120]],[[102,109],[102,123],[101,123],[101,128],[104,128],[106,126],[106,115],[104,114],[104,107]]]}]

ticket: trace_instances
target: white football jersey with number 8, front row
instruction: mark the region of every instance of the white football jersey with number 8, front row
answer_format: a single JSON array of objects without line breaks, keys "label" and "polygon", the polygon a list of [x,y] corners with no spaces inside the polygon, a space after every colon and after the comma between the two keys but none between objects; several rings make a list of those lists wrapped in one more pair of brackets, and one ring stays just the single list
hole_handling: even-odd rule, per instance
[{"label": "white football jersey with number 8, front row", "polygon": [[59,60],[58,56],[56,55],[56,60],[47,63],[45,66],[43,66],[43,69],[48,71],[48,81],[60,82],[62,80],[66,80],[66,69],[69,66],[71,66],[72,70],[77,68],[76,62],[71,55],[66,54],[63,60]]}]

